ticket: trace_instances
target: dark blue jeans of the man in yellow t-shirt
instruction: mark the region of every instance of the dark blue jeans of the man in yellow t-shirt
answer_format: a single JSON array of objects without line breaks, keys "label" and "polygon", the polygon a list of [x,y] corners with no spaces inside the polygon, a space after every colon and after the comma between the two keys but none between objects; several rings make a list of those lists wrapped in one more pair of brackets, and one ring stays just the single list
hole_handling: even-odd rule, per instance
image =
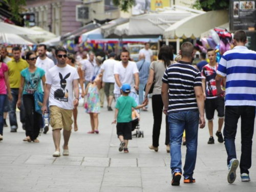
[{"label": "dark blue jeans of the man in yellow t-shirt", "polygon": [[[17,118],[16,118],[16,105],[18,101],[18,88],[11,88],[11,94],[12,94],[12,101],[9,101],[9,119],[10,119],[10,125],[11,129],[17,129]],[[22,106],[19,108],[20,112],[20,122],[23,124],[25,123],[25,109],[22,104]]]}]

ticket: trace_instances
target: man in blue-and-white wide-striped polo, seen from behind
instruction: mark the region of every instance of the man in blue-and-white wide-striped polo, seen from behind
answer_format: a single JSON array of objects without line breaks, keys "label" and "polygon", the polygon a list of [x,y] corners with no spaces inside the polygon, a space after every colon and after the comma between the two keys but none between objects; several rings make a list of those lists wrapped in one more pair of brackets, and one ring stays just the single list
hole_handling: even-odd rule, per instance
[{"label": "man in blue-and-white wide-striped polo, seen from behind", "polygon": [[[251,148],[255,118],[256,97],[256,52],[245,47],[246,33],[238,30],[234,33],[234,48],[223,54],[216,76],[216,87],[219,95],[225,98],[224,141],[227,151],[229,183],[236,180],[236,169],[239,165],[236,154],[237,124],[241,117],[241,159],[240,173],[242,181],[250,181]],[[221,90],[222,78],[226,77],[226,90]]]}]

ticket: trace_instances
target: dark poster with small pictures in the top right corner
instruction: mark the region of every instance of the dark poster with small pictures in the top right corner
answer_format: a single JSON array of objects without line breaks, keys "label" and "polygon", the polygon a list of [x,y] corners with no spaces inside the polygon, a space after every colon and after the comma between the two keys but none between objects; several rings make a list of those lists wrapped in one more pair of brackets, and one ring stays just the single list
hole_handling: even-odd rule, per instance
[{"label": "dark poster with small pictures in the top right corner", "polygon": [[256,0],[237,1],[230,0],[230,31],[245,30],[255,31],[256,29]]}]

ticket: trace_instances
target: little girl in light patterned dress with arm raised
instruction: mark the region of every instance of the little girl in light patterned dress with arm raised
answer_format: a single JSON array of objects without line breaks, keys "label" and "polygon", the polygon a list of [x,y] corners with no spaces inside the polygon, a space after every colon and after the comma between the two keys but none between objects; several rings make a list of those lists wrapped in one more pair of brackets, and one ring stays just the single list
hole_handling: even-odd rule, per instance
[{"label": "little girl in light patterned dress with arm raised", "polygon": [[101,89],[101,74],[99,74],[92,83],[89,83],[85,95],[87,95],[86,113],[90,115],[92,130],[89,134],[99,133],[98,131],[98,114],[100,113],[99,90]]}]

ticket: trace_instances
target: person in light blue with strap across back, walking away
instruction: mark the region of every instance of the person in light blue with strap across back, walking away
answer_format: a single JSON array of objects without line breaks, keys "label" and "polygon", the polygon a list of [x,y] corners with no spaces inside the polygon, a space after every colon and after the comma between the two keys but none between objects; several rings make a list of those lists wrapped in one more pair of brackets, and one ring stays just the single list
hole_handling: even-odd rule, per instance
[{"label": "person in light blue with strap across back, walking away", "polygon": [[[150,62],[145,60],[145,55],[142,53],[139,55],[139,61],[136,63],[139,70],[139,102],[142,104],[144,100],[145,92],[144,86],[147,82],[148,75],[150,74]],[[147,111],[147,106],[142,108],[143,111]]]}]

